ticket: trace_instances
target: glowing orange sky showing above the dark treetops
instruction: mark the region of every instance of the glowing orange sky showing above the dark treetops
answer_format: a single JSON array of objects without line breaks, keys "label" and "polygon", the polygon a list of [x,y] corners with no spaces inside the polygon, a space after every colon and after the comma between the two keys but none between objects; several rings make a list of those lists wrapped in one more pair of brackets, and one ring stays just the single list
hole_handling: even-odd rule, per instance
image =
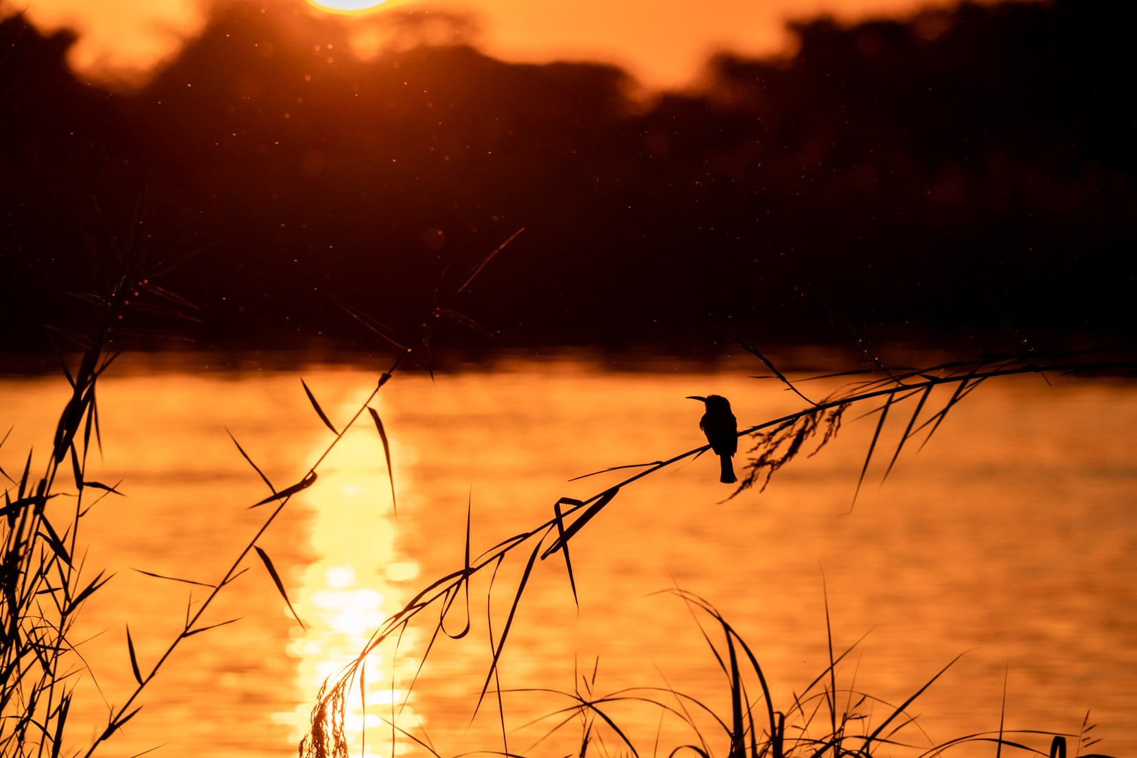
[{"label": "glowing orange sky showing above the dark treetops", "polygon": [[[208,0],[0,0],[6,15],[27,8],[42,30],[68,25],[81,32],[72,64],[100,70],[146,72],[176,53],[199,31]],[[302,3],[306,0],[264,0]],[[653,88],[682,86],[708,52],[777,52],[786,44],[782,20],[828,13],[844,19],[904,15],[914,0],[399,0],[404,9],[455,9],[480,19],[479,47],[515,61],[553,58],[619,64]],[[699,9],[709,6],[712,11]],[[380,11],[381,13],[381,11]],[[352,23],[342,16],[345,23]]]}]

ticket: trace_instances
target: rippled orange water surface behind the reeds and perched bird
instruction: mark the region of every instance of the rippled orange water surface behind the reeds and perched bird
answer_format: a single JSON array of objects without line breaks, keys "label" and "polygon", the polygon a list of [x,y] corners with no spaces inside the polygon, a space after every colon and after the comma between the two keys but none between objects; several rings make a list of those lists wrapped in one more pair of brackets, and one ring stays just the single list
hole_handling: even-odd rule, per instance
[{"label": "rippled orange water surface behind the reeds and perched bird", "polygon": [[[418,589],[463,566],[467,508],[479,553],[545,522],[558,498],[587,498],[628,472],[570,482],[574,476],[697,447],[700,408],[688,394],[730,397],[740,426],[800,407],[780,385],[748,377],[755,373],[764,372],[661,363],[611,373],[588,361],[534,360],[434,381],[397,375],[372,403],[390,440],[397,514],[383,448],[364,414],[321,465],[317,483],[258,541],[306,628],[291,619],[257,557],[248,557],[249,570],[207,617],[240,620],[185,641],[142,713],[102,755],[159,745],[157,755],[169,756],[294,752],[323,677]],[[267,490],[226,430],[285,486],[333,439],[300,377],[341,427],[377,374],[329,366],[218,372],[192,361],[108,374],[100,391],[103,453],[92,475],[121,482],[126,497],[103,499],[83,527],[89,569],[109,567],[116,576],[73,638],[83,640],[94,674],[81,685],[74,745],[101,730],[103,702],[122,702],[132,689],[126,625],[141,665],[152,665],[186,608],[205,595],[200,586],[134,569],[216,582],[272,507],[248,508]],[[0,422],[14,425],[0,449],[5,470],[20,470],[28,448],[50,447],[66,394],[57,377],[0,380]],[[579,750],[576,724],[532,748],[558,719],[521,726],[567,705],[520,691],[533,688],[572,692],[586,680],[595,694],[665,686],[725,715],[725,678],[698,623],[716,644],[720,635],[665,592],[681,588],[737,627],[782,710],[828,665],[828,603],[837,653],[864,635],[838,668],[837,686],[880,700],[854,708],[871,725],[890,711],[885,702],[903,702],[964,653],[911,709],[920,728],[902,732],[904,740],[928,745],[997,730],[1005,681],[1007,728],[1077,733],[1090,710],[1098,751],[1137,751],[1137,386],[988,382],[919,455],[905,450],[882,486],[874,465],[850,511],[875,426],[852,418],[832,445],[795,460],[761,494],[724,500],[730,489],[717,483],[709,458],[626,488],[572,542],[579,607],[563,559],[538,561],[500,666],[509,749]],[[905,420],[881,443],[889,455]],[[530,549],[518,549],[495,578],[495,635]],[[382,719],[392,716],[392,702],[400,703],[400,727],[441,755],[503,749],[496,695],[473,716],[490,659],[488,590],[484,578],[471,586],[467,638],[437,641],[423,660],[438,618],[426,611],[398,651],[384,645],[372,658],[366,752],[390,755]],[[464,622],[458,603],[447,628]],[[840,701],[849,698],[857,702],[844,692]],[[612,708],[640,755],[674,747],[657,748],[655,739],[659,730],[674,736],[677,719],[661,722],[659,709],[642,703]],[[360,723],[352,719],[352,728]],[[711,747],[725,755],[707,724],[705,733],[719,740]],[[604,742],[616,744],[611,733]],[[406,738],[395,749],[423,752]],[[358,745],[352,755],[362,755]]]}]

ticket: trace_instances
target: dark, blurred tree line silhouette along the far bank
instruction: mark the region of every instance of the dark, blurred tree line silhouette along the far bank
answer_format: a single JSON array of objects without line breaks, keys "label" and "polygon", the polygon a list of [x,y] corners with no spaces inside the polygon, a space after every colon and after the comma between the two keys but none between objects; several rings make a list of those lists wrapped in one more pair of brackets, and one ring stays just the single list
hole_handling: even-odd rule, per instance
[{"label": "dark, blurred tree line silhouette along the far bank", "polygon": [[[471,348],[996,328],[1131,339],[1134,86],[1098,0],[791,25],[644,97],[608,65],[507,64],[463,19],[243,0],[144,86],[81,82],[74,36],[0,23],[0,347],[141,250],[147,328],[202,345],[374,345],[440,276]],[[441,24],[439,34],[429,24]],[[160,286],[160,289],[158,289]],[[163,313],[157,313],[163,311]],[[173,311],[174,315],[171,314]],[[63,322],[63,323],[60,323]],[[906,326],[905,326],[906,325]],[[163,347],[161,339],[138,338]]]}]

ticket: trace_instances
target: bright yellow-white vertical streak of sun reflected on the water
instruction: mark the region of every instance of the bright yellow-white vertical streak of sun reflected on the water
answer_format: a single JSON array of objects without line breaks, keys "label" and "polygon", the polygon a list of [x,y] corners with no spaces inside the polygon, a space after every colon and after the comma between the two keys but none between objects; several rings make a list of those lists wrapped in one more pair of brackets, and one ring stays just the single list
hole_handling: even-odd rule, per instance
[{"label": "bright yellow-white vertical streak of sun reflected on the water", "polygon": [[[325,438],[317,442],[325,443]],[[392,456],[398,456],[398,440],[390,443]],[[322,448],[315,455],[319,452]],[[405,451],[405,458],[410,456]],[[417,563],[397,552],[390,483],[374,430],[352,428],[345,435],[324,460],[321,484],[308,490],[305,500],[312,510],[309,549],[315,559],[304,570],[296,608],[307,630],[297,628],[287,649],[296,659],[301,702],[274,717],[294,730],[297,740],[307,733],[321,685],[359,656],[375,631],[401,608],[400,583],[418,575]],[[363,740],[364,730],[384,725],[390,730],[392,723],[399,730],[414,730],[423,724],[404,685],[418,667],[409,652],[415,641],[410,630],[399,650],[383,647],[368,655],[362,668],[363,701],[359,682],[350,688],[355,697],[348,702],[346,736],[350,744],[367,744],[365,756],[381,755],[371,752],[371,744],[381,745],[376,749],[385,755],[391,741],[371,734]]]}]

